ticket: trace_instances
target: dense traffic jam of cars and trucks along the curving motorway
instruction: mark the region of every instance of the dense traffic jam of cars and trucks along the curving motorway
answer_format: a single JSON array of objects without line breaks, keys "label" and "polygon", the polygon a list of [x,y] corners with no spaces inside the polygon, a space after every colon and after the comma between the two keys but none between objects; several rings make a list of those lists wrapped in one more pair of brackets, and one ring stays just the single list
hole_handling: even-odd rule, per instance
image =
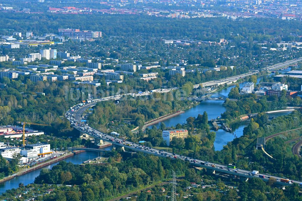
[{"label": "dense traffic jam of cars and trucks along the curving motorway", "polygon": [[[169,89],[169,90],[171,90],[171,89]],[[152,92],[154,92],[154,90],[147,92],[147,93],[149,94]],[[138,93],[135,93],[134,95],[139,96],[141,94],[142,94],[141,92],[138,92]],[[131,95],[133,95],[133,94],[131,94]],[[145,93],[145,95],[147,95],[147,94]],[[119,95],[119,96],[123,96],[123,95]],[[173,159],[179,158],[181,160],[188,161],[192,165],[206,167],[208,169],[217,170],[217,171],[219,170],[224,173],[231,173],[231,174],[241,175],[241,176],[250,177],[250,178],[259,177],[263,180],[268,180],[270,177],[273,177],[270,175],[259,174],[258,171],[246,171],[246,170],[238,169],[233,164],[221,165],[221,164],[210,163],[208,161],[201,161],[198,159],[193,159],[193,158],[189,158],[189,157],[182,156],[182,155],[177,155],[175,153],[157,150],[156,148],[139,145],[139,144],[136,144],[136,143],[133,143],[130,141],[126,141],[125,139],[119,139],[116,136],[110,136],[108,134],[100,132],[100,131],[90,127],[87,124],[86,120],[82,120],[82,118],[87,118],[87,114],[85,116],[82,116],[84,111],[86,109],[88,109],[89,107],[95,105],[95,102],[114,99],[114,98],[116,98],[116,96],[105,97],[105,98],[93,100],[93,98],[89,95],[88,99],[84,103],[80,103],[73,107],[70,107],[70,110],[68,110],[66,112],[65,117],[70,121],[71,126],[78,129],[79,131],[85,132],[90,136],[94,136],[98,139],[105,140],[105,141],[111,142],[116,145],[121,145],[121,146],[130,148],[130,149],[139,150],[144,153],[158,155],[158,156],[162,156],[162,157],[170,157]],[[81,110],[79,111],[79,109],[81,109]],[[78,113],[77,113],[77,111],[78,111]],[[284,178],[280,178],[280,177],[273,177],[273,178],[275,178],[277,180],[277,182],[280,182],[280,183],[287,183],[287,185],[290,185],[294,182],[294,183],[298,183],[299,186],[302,187],[302,183],[300,183],[299,181],[291,181],[289,179],[284,179]]]}]

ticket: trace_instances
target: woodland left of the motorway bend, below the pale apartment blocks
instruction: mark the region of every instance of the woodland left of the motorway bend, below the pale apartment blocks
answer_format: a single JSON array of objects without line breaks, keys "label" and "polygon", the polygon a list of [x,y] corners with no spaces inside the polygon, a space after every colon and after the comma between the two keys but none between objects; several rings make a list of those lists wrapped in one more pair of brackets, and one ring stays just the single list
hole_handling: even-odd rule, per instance
[{"label": "woodland left of the motorway bend, below the pale apartment blocks", "polygon": [[69,121],[60,117],[74,104],[68,91],[74,87],[72,83],[33,83],[22,75],[17,80],[4,77],[2,83],[7,87],[0,89],[0,125],[15,125],[16,121],[45,123],[51,125],[48,134],[70,135]]}]

